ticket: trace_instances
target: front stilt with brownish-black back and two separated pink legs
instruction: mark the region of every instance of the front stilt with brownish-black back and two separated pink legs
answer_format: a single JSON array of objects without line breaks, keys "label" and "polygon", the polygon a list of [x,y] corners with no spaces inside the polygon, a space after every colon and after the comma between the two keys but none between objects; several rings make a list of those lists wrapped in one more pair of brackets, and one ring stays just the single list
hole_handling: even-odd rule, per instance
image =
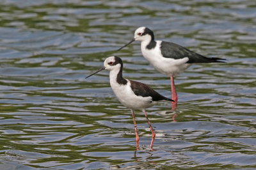
[{"label": "front stilt with brownish-black back and two separated pink legs", "polygon": [[[136,148],[138,150],[139,147],[139,135],[137,130],[137,125],[134,116],[134,110],[141,110],[145,113],[145,117],[147,118],[148,125],[150,126],[152,132],[152,141],[150,144],[150,148],[152,149],[154,139],[155,139],[155,132],[150,124],[150,121],[147,117],[146,108],[154,106],[159,101],[173,101],[167,97],[162,96],[161,94],[157,93],[155,90],[151,89],[147,85],[140,83],[138,81],[132,81],[123,78],[122,71],[123,71],[123,62],[120,57],[112,56],[108,57],[104,61],[104,67],[99,69],[93,74],[99,73],[100,71],[107,69],[109,70],[109,81],[110,86],[115,93],[117,99],[120,103],[124,104],[127,108],[131,109],[133,122],[134,122],[134,129],[136,134]],[[90,74],[92,76],[93,74]],[[86,78],[90,77],[87,76]]]}]

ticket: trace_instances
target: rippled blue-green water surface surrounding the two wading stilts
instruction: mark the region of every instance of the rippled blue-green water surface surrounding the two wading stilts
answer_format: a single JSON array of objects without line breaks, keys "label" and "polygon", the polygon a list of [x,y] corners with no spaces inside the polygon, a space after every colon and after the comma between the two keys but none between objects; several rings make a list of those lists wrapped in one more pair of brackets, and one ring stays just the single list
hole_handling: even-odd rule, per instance
[{"label": "rippled blue-green water surface surrounding the two wading stilts", "polygon": [[[253,169],[256,167],[255,1],[0,1],[0,169]],[[156,132],[115,98],[104,59],[171,96],[170,80],[136,42],[148,26],[226,64],[195,64],[175,78],[179,105],[149,108]],[[174,117],[173,117],[174,116]]]}]

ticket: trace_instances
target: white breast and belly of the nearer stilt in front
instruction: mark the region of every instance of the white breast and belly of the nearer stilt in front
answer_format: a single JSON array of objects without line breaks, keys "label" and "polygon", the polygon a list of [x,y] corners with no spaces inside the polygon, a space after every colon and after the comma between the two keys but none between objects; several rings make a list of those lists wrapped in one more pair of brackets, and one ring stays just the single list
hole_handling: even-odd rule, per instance
[{"label": "white breast and belly of the nearer stilt in front", "polygon": [[152,97],[136,96],[131,90],[131,83],[128,80],[127,85],[120,85],[118,83],[110,83],[113,92],[120,103],[132,110],[143,110],[156,104],[152,101]]}]

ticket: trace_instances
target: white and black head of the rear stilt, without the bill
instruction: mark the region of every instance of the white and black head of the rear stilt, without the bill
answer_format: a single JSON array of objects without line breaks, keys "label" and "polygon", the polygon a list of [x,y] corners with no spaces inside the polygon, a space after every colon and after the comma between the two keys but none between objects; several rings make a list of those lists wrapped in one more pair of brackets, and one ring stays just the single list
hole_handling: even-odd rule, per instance
[{"label": "white and black head of the rear stilt, without the bill", "polygon": [[154,33],[148,27],[140,27],[134,32],[135,41],[154,40]]}]

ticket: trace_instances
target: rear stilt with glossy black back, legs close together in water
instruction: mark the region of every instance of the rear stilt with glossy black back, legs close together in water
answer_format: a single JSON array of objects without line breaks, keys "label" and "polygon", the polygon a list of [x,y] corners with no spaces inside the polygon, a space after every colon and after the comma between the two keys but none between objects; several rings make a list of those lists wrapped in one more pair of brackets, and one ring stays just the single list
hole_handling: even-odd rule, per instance
[{"label": "rear stilt with glossy black back, legs close together in water", "polygon": [[134,32],[134,38],[122,46],[131,44],[133,41],[141,41],[141,52],[143,57],[152,64],[160,73],[170,76],[172,86],[173,108],[177,107],[178,96],[175,90],[173,76],[181,73],[193,63],[223,62],[225,59],[208,58],[195,52],[191,52],[183,46],[172,42],[156,41],[154,33],[148,27],[139,27]]}]

